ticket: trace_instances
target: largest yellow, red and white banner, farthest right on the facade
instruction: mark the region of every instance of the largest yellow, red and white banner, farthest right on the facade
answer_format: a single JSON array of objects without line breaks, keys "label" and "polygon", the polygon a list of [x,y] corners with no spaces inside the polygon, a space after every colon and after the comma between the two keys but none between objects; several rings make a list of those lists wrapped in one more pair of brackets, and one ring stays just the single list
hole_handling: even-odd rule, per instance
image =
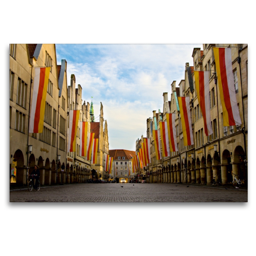
[{"label": "largest yellow, red and white banner, farthest right on the facade", "polygon": [[231,48],[213,47],[213,53],[223,110],[223,125],[232,126],[242,124],[236,101]]}]

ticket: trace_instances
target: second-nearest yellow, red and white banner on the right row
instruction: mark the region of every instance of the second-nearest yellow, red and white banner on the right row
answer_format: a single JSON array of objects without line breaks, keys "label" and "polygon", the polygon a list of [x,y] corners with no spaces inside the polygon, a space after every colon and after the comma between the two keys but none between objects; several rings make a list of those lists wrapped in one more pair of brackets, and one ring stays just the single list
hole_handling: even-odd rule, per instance
[{"label": "second-nearest yellow, red and white banner on the right row", "polygon": [[204,118],[204,133],[212,134],[211,111],[210,111],[210,71],[194,71],[197,99]]}]

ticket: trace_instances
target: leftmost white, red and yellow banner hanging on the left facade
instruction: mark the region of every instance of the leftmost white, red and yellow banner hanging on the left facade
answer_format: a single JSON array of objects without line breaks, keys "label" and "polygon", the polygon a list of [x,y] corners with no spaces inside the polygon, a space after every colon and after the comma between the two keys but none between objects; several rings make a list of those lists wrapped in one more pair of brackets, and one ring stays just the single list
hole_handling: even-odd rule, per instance
[{"label": "leftmost white, red and yellow banner hanging on the left facade", "polygon": [[44,110],[51,67],[35,68],[29,132],[42,133],[44,129]]}]

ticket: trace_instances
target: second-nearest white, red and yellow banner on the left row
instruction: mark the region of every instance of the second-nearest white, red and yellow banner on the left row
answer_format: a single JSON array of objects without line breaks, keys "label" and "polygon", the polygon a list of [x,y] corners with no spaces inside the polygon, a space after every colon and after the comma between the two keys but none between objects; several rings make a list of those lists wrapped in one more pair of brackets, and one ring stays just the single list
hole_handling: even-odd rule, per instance
[{"label": "second-nearest white, red and yellow banner on the left row", "polygon": [[69,111],[68,152],[76,151],[76,133],[79,115],[80,110]]}]

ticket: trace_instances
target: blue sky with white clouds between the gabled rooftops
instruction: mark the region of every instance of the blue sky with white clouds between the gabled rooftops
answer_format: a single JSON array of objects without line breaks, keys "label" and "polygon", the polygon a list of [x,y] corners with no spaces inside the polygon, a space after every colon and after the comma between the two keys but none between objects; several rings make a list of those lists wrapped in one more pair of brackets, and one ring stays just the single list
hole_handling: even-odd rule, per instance
[{"label": "blue sky with white clouds between the gabled rooftops", "polygon": [[185,63],[193,65],[194,47],[203,45],[56,44],[56,52],[58,64],[67,60],[68,85],[75,74],[82,99],[93,101],[96,122],[102,102],[109,149],[135,150],[152,111],[163,111],[163,92],[170,100],[172,81],[178,85]]}]

